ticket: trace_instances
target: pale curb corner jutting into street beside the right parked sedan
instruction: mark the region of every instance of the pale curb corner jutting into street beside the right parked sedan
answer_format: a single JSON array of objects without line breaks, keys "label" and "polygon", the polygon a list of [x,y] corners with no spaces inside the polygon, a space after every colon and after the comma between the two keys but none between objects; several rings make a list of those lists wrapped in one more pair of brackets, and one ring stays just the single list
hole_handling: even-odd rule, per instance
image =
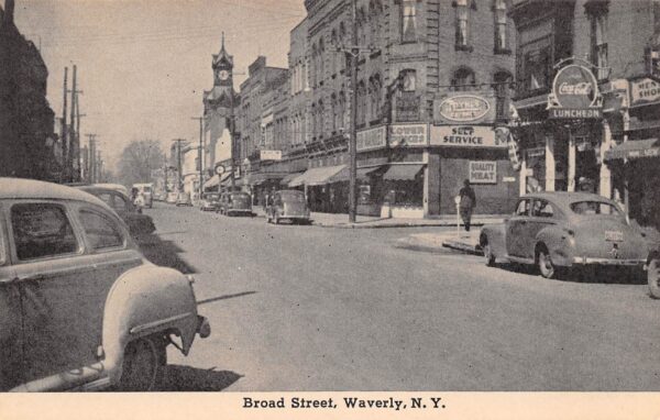
[{"label": "pale curb corner jutting into street beside the right parked sedan", "polygon": [[414,233],[397,240],[396,246],[413,251],[438,252],[443,247],[461,251],[473,255],[483,255],[479,247],[480,230],[465,232],[461,230],[442,233]]}]

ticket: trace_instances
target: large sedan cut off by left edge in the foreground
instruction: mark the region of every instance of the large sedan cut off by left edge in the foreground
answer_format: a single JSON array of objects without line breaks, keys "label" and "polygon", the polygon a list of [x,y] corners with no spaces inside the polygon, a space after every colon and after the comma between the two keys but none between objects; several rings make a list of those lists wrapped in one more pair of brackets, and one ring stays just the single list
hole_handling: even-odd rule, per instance
[{"label": "large sedan cut off by left edge in the foreground", "polygon": [[108,205],[0,178],[0,390],[150,390],[196,334],[193,278],[147,262]]}]

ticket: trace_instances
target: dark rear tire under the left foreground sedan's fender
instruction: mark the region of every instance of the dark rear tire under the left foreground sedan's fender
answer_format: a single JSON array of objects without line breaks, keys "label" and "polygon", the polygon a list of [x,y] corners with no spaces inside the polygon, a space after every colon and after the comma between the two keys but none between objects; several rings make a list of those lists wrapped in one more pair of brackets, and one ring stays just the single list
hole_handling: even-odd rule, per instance
[{"label": "dark rear tire under the left foreground sedan's fender", "polygon": [[167,361],[165,343],[155,338],[130,342],[124,350],[124,361],[118,388],[120,391],[154,390]]}]

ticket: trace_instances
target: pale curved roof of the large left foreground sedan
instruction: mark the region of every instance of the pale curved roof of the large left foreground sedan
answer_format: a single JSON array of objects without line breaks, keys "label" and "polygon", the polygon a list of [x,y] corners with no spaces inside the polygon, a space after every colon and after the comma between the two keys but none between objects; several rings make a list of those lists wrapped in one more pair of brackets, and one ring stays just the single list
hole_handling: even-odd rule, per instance
[{"label": "pale curved roof of the large left foreground sedan", "polygon": [[35,179],[0,177],[0,199],[75,200],[110,210],[99,198],[80,189]]}]

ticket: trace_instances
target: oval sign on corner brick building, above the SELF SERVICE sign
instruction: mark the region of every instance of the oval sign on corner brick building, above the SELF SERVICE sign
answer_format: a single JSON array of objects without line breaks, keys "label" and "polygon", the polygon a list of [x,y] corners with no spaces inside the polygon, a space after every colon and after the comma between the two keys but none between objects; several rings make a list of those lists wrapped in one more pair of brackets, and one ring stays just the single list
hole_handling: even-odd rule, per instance
[{"label": "oval sign on corner brick building, above the SELF SERVICE sign", "polygon": [[453,92],[433,101],[437,124],[491,123],[495,121],[494,98]]}]

